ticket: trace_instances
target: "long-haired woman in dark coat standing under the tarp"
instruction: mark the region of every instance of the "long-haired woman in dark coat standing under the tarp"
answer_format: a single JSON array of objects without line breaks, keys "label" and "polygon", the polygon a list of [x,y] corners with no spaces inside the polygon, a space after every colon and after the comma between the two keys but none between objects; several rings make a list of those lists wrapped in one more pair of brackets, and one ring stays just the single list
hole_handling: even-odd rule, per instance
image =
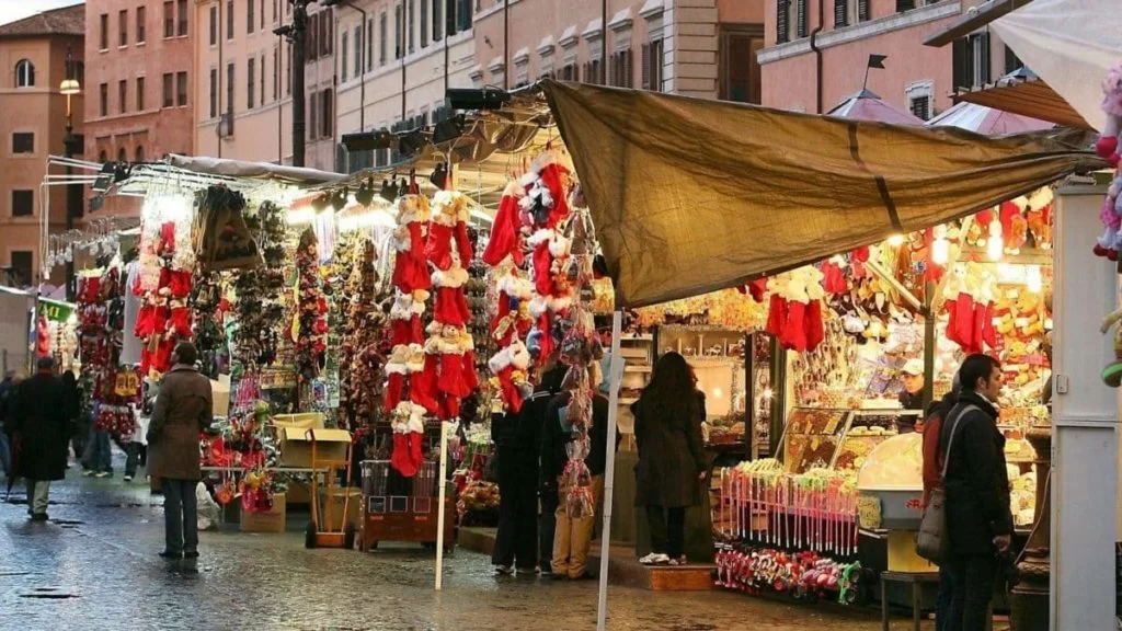
[{"label": "long-haired woman in dark coat standing under the tarp", "polygon": [[686,509],[701,502],[700,482],[708,466],[701,438],[705,395],[686,358],[668,353],[654,366],[651,383],[632,405],[635,417],[635,504],[646,506],[651,554],[645,565],[682,563]]}]

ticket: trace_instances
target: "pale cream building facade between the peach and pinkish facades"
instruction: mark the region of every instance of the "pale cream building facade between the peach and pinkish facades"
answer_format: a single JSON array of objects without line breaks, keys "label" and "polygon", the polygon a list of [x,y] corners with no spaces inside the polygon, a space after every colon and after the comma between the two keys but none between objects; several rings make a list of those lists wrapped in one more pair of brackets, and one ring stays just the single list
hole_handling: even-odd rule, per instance
[{"label": "pale cream building facade between the peach and pinkish facades", "polygon": [[[449,113],[445,90],[472,85],[470,2],[356,0],[335,10],[340,135],[438,122]],[[339,168],[358,171],[389,159],[388,150],[341,150]]]}]

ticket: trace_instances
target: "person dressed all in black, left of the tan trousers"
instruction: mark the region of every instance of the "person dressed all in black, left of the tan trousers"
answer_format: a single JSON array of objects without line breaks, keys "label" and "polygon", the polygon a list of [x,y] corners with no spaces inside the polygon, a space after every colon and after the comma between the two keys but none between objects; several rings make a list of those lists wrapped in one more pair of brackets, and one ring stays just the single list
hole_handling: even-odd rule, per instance
[{"label": "person dressed all in black, left of the tan trousers", "polygon": [[534,394],[517,412],[491,420],[498,458],[498,532],[491,565],[495,573],[533,573],[537,557],[537,456],[550,401],[561,391],[564,366],[546,371]]}]

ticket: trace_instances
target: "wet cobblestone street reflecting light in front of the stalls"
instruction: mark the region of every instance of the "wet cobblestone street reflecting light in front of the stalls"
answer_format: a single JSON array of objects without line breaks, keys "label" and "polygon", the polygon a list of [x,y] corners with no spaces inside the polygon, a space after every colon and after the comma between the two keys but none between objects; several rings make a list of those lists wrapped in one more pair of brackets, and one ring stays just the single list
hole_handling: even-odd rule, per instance
[{"label": "wet cobblestone street reflecting light in front of the stalls", "polygon": [[[77,477],[56,483],[52,522],[31,523],[17,485],[0,503],[0,629],[568,631],[595,629],[596,583],[491,576],[458,550],[433,591],[421,548],[305,550],[302,533],[201,533],[197,574],[156,556],[163,499],[147,485]],[[142,478],[141,478],[142,479]],[[0,490],[3,487],[0,486]],[[0,496],[2,497],[2,496]],[[795,606],[741,594],[610,586],[616,631],[874,631],[867,612]],[[910,629],[903,619],[894,630]]]}]

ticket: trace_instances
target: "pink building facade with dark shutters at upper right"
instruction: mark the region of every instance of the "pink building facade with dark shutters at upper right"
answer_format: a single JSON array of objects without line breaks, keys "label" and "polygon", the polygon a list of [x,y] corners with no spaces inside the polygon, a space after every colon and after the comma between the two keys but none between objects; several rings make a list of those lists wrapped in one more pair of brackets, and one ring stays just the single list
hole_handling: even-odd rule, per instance
[{"label": "pink building facade with dark shutters at upper right", "polygon": [[[956,89],[984,85],[1020,67],[1012,51],[982,28],[954,46],[923,46],[973,0],[769,0],[766,48],[760,52],[765,106],[828,112],[863,85],[885,101],[930,119],[951,104]],[[811,48],[811,35],[821,55]],[[819,82],[821,84],[819,94]]]}]

